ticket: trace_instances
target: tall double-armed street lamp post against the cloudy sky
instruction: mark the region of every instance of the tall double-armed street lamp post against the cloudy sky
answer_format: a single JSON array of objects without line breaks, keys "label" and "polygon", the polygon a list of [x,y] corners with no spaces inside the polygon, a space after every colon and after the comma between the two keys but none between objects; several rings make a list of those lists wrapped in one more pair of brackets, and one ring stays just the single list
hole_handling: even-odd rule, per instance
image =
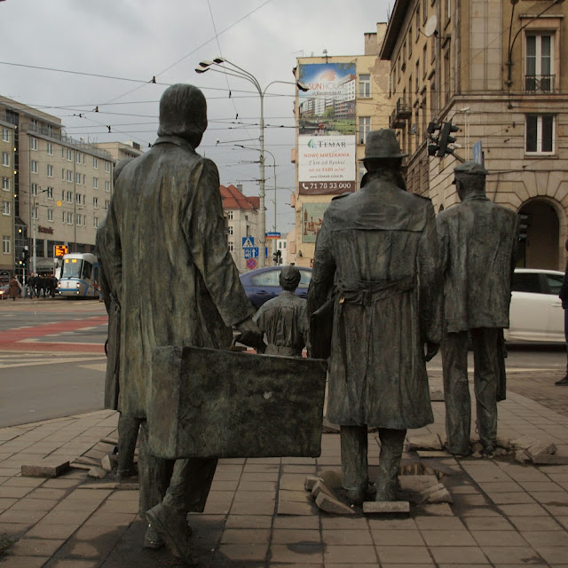
[{"label": "tall double-armed street lamp post against the cloudy sky", "polygon": [[[212,71],[217,71],[217,73],[222,73],[223,75],[231,75],[233,77],[239,77],[240,79],[248,81],[248,83],[252,83],[255,86],[256,91],[258,91],[258,96],[260,97],[260,122],[259,122],[260,136],[258,138],[258,141],[260,143],[260,182],[259,182],[260,188],[258,191],[258,196],[260,198],[259,199],[260,226],[258,228],[258,233],[260,233],[258,238],[260,254],[258,255],[258,267],[263,268],[265,265],[264,261],[265,261],[265,249],[266,249],[266,211],[264,209],[265,181],[266,181],[264,177],[264,94],[266,93],[268,87],[270,87],[274,83],[295,84],[298,87],[298,89],[300,89],[301,91],[308,91],[308,88],[299,82],[290,83],[288,81],[272,81],[271,83],[268,83],[263,89],[260,86],[260,83],[258,83],[258,80],[256,79],[255,75],[248,73],[247,70],[235,65],[234,63],[223,57],[216,57],[212,61],[209,60],[201,61],[199,65],[200,67],[195,67],[196,73],[205,73],[206,71],[212,70]],[[213,66],[218,66],[219,69]],[[231,66],[231,67],[226,67],[226,66]],[[274,167],[274,170],[276,170],[276,167]],[[276,197],[274,197],[274,199],[276,199]]]}]

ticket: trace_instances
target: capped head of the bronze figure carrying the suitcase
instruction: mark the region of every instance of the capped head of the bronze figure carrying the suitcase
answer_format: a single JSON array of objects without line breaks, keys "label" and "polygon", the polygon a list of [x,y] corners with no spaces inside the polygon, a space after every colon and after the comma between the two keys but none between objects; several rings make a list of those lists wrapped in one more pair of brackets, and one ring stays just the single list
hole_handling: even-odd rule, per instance
[{"label": "capped head of the bronze figure carrying the suitcase", "polygon": [[197,87],[177,83],[163,91],[158,136],[184,138],[196,148],[206,129],[207,102]]}]

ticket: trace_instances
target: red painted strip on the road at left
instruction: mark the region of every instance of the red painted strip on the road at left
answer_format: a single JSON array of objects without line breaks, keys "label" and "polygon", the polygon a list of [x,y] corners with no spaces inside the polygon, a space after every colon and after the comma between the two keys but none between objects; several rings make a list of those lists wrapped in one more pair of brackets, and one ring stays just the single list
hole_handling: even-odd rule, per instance
[{"label": "red painted strip on the road at left", "polygon": [[57,335],[64,331],[76,331],[84,327],[105,325],[107,316],[59,321],[36,327],[9,329],[0,335],[0,349],[7,351],[78,351],[86,353],[102,353],[103,345],[93,343],[59,342],[24,342],[25,339],[38,339],[45,335]]}]

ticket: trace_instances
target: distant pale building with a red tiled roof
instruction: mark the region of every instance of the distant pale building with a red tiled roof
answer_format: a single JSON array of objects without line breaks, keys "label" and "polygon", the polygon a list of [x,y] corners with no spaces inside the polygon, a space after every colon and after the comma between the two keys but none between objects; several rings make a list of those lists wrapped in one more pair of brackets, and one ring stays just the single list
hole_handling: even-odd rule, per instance
[{"label": "distant pale building with a red tiled roof", "polygon": [[[220,191],[223,200],[223,213],[225,215],[229,251],[231,252],[231,256],[233,256],[234,263],[237,265],[239,272],[247,272],[251,270],[251,268],[247,265],[248,258],[245,257],[245,250],[242,245],[243,241],[250,238],[252,244],[254,244],[256,248],[258,247],[256,236],[260,198],[244,195],[242,193],[241,184],[221,185]],[[245,242],[245,244],[248,243]],[[247,256],[249,254],[250,251],[247,252]],[[266,265],[269,264],[267,263]],[[256,268],[256,266],[254,268]]]}]

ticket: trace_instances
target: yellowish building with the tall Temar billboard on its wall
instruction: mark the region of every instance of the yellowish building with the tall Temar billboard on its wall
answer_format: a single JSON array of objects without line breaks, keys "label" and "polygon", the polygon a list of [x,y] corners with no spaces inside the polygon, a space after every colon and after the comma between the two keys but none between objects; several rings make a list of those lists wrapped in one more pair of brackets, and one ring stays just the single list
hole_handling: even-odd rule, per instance
[{"label": "yellowish building with the tall Temar billboard on its wall", "polygon": [[329,202],[359,188],[370,130],[389,125],[388,63],[378,58],[386,24],[365,34],[365,54],[298,58],[296,78],[309,91],[296,101],[295,240],[287,260],[311,266],[316,235]]}]

